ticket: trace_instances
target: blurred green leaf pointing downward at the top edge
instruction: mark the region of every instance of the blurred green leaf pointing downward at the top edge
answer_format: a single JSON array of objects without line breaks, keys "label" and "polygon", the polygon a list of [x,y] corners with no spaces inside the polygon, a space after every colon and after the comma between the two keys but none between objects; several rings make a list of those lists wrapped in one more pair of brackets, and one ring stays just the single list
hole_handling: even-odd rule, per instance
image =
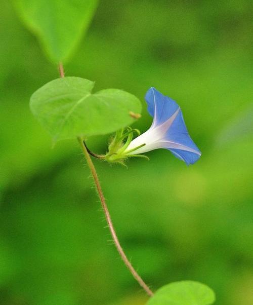
[{"label": "blurred green leaf pointing downward at the top edge", "polygon": [[14,0],[24,24],[49,58],[66,61],[90,24],[98,0]]}]

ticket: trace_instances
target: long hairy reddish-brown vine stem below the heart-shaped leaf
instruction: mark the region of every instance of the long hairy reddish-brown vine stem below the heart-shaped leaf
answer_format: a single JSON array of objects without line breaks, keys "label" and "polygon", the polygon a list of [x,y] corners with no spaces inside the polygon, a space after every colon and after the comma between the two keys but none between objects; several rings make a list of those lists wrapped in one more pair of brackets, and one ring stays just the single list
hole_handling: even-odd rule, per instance
[{"label": "long hairy reddish-brown vine stem below the heart-shaped leaf", "polygon": [[83,139],[81,137],[78,137],[77,139],[78,139],[78,142],[81,145],[83,154],[85,155],[85,158],[87,160],[88,166],[89,166],[89,168],[91,170],[91,173],[92,173],[92,176],[93,176],[96,188],[97,188],[98,196],[99,196],[99,199],[101,201],[101,205],[102,205],[102,208],[104,210],[106,221],[107,221],[107,224],[108,224],[108,227],[109,227],[109,230],[110,230],[113,242],[114,242],[114,244],[116,246],[116,249],[118,250],[118,253],[121,256],[121,258],[122,258],[123,262],[125,263],[126,267],[128,267],[128,269],[132,273],[133,277],[137,280],[137,282],[140,284],[140,286],[147,292],[147,294],[152,296],[153,292],[150,290],[148,285],[143,281],[143,279],[139,276],[137,271],[134,269],[133,265],[129,261],[128,257],[126,257],[126,255],[125,255],[125,253],[124,253],[124,251],[123,251],[123,249],[122,249],[122,247],[121,247],[121,245],[119,243],[119,240],[118,240],[118,237],[116,235],[114,226],[112,224],[111,216],[110,216],[110,213],[109,213],[106,201],[105,201],[105,197],[104,197],[104,194],[103,194],[100,182],[99,182],[99,178],[98,178],[98,174],[97,174],[97,171],[95,169],[95,166],[94,166],[94,164],[92,162],[92,159],[91,159],[91,157],[89,155],[89,152],[88,152],[88,150],[86,148],[86,145],[83,143]]}]

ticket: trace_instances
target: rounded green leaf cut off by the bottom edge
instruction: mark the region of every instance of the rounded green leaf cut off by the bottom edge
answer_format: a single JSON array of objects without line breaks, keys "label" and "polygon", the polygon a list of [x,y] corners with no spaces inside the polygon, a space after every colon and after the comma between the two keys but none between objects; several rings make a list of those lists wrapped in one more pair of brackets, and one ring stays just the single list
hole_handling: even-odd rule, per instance
[{"label": "rounded green leaf cut off by the bottom edge", "polygon": [[214,301],[215,293],[208,286],[193,281],[182,281],[158,289],[147,305],[210,305]]}]

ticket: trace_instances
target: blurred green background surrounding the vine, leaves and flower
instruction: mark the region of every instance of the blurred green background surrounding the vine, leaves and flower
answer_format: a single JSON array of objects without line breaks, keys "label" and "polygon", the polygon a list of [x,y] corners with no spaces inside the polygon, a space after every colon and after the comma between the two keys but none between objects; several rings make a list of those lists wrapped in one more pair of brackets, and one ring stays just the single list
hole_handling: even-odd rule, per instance
[{"label": "blurred green background surrounding the vine, leaves and flower", "polygon": [[[126,254],[153,289],[212,287],[216,305],[253,304],[251,1],[102,0],[66,75],[138,96],[142,132],[154,86],[183,109],[202,151],[189,168],[167,150],[129,168],[96,160]],[[57,67],[1,3],[0,304],[144,305],[110,242],[77,141],[52,148],[31,94]],[[108,137],[94,137],[98,153]],[[109,240],[109,242],[108,242]]]}]

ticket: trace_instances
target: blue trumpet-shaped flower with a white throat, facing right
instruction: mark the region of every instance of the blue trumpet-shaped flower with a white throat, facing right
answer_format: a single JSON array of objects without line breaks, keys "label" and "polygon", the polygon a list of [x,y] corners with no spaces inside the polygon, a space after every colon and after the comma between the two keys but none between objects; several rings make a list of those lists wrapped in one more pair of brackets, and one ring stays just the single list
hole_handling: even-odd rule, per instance
[{"label": "blue trumpet-shaped flower with a white throat, facing right", "polygon": [[[129,151],[129,155],[136,155],[166,148],[187,165],[195,163],[201,153],[188,134],[179,105],[153,87],[147,91],[145,99],[153,123],[129,144],[125,153]],[[139,148],[135,149],[136,147]]]}]

